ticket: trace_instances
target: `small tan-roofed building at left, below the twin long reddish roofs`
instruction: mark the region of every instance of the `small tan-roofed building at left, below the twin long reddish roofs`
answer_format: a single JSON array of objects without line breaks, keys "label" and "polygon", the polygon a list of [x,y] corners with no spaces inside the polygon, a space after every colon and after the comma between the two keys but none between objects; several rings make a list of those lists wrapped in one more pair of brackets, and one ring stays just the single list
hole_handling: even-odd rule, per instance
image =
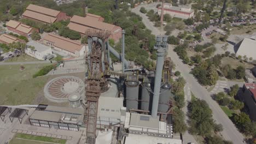
[{"label": "small tan-roofed building at left, below the twin long reddish roofs", "polygon": [[30,34],[35,31],[39,32],[39,29],[33,28],[31,26],[24,25],[21,22],[10,20],[6,23],[6,27],[9,31],[24,35],[25,37],[29,37]]}]

